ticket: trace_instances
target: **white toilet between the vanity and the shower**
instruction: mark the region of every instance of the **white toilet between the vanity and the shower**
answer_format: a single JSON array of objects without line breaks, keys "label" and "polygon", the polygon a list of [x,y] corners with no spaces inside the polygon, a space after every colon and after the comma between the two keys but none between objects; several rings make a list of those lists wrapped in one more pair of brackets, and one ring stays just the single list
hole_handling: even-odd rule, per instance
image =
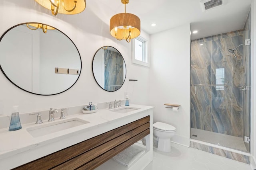
[{"label": "white toilet between the vanity and the shower", "polygon": [[154,139],[158,141],[157,149],[162,152],[171,151],[170,139],[175,135],[176,128],[172,125],[162,122],[153,124]]}]

